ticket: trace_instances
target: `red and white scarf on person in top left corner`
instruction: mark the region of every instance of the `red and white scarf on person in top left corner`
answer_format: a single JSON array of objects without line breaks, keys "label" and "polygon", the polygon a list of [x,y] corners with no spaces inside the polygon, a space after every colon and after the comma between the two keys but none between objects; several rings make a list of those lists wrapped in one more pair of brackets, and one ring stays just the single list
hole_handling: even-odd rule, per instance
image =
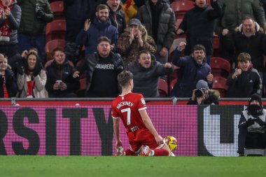
[{"label": "red and white scarf on person in top left corner", "polygon": [[[9,8],[10,10],[13,8],[13,0],[11,0],[10,6],[6,7],[3,6],[2,2],[0,1],[0,17],[3,18],[5,14],[5,10]],[[9,42],[10,41],[10,33],[11,29],[8,26],[8,18],[3,22],[3,26],[0,27],[0,41]]]}]

